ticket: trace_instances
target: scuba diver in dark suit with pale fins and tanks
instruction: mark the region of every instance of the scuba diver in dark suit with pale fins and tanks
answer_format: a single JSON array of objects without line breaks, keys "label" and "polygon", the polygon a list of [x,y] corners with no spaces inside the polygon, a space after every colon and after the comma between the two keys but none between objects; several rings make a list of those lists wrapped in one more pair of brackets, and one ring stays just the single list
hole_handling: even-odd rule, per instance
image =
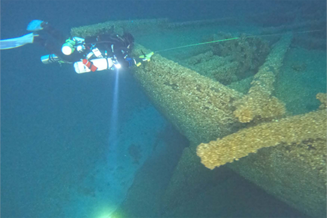
[{"label": "scuba diver in dark suit with pale fins and tanks", "polygon": [[130,57],[134,46],[134,37],[130,33],[122,36],[99,34],[96,36],[65,38],[48,22],[33,20],[27,30],[32,33],[22,37],[0,40],[0,49],[11,49],[28,43],[39,43],[50,54],[41,57],[44,64],[72,63],[76,73],[95,72],[101,70],[115,70],[140,66],[144,61],[150,61],[153,52],[139,58]]}]

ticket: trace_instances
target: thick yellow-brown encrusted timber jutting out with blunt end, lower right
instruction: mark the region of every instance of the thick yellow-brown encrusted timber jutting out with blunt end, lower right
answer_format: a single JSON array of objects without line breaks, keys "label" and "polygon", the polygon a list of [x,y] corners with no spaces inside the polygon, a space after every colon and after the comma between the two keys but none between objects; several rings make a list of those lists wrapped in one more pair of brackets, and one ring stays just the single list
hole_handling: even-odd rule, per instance
[{"label": "thick yellow-brown encrusted timber jutting out with blunt end, lower right", "polygon": [[319,110],[242,129],[217,141],[201,143],[197,155],[202,164],[214,169],[263,147],[299,144],[304,140],[325,140],[326,117],[326,110]]}]

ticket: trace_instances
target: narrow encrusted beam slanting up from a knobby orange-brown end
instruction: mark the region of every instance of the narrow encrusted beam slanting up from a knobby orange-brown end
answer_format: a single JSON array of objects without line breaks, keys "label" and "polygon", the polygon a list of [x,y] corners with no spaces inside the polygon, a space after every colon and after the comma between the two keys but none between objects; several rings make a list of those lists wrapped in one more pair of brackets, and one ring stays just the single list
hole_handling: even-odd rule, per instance
[{"label": "narrow encrusted beam slanting up from a knobby orange-brown end", "polygon": [[241,123],[248,123],[255,117],[273,119],[285,114],[284,103],[271,96],[271,93],[274,90],[275,74],[278,74],[283,65],[283,59],[291,41],[292,35],[285,35],[274,45],[266,62],[254,75],[248,94],[234,102],[236,110],[233,114]]}]

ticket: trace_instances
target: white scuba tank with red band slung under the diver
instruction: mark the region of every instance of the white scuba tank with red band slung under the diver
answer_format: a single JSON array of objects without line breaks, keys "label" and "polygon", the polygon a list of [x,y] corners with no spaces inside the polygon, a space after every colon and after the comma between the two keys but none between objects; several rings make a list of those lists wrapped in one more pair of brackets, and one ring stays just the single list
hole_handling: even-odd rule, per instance
[{"label": "white scuba tank with red band slung under the diver", "polygon": [[[113,62],[111,58],[96,58],[89,61],[91,61],[93,65],[97,67],[96,71],[112,69]],[[75,62],[74,68],[77,74],[91,72],[91,70],[84,65],[82,61]]]}]

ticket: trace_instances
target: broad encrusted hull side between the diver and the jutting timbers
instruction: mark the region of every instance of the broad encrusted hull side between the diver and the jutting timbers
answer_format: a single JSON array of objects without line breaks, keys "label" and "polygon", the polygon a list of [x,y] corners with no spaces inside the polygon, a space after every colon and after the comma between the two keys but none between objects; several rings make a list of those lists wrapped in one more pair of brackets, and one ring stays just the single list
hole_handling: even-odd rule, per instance
[{"label": "broad encrusted hull side between the diver and the jutting timbers", "polygon": [[[134,52],[146,48],[136,44]],[[240,124],[232,102],[243,94],[159,54],[132,71],[152,103],[190,141],[209,142]]]}]

